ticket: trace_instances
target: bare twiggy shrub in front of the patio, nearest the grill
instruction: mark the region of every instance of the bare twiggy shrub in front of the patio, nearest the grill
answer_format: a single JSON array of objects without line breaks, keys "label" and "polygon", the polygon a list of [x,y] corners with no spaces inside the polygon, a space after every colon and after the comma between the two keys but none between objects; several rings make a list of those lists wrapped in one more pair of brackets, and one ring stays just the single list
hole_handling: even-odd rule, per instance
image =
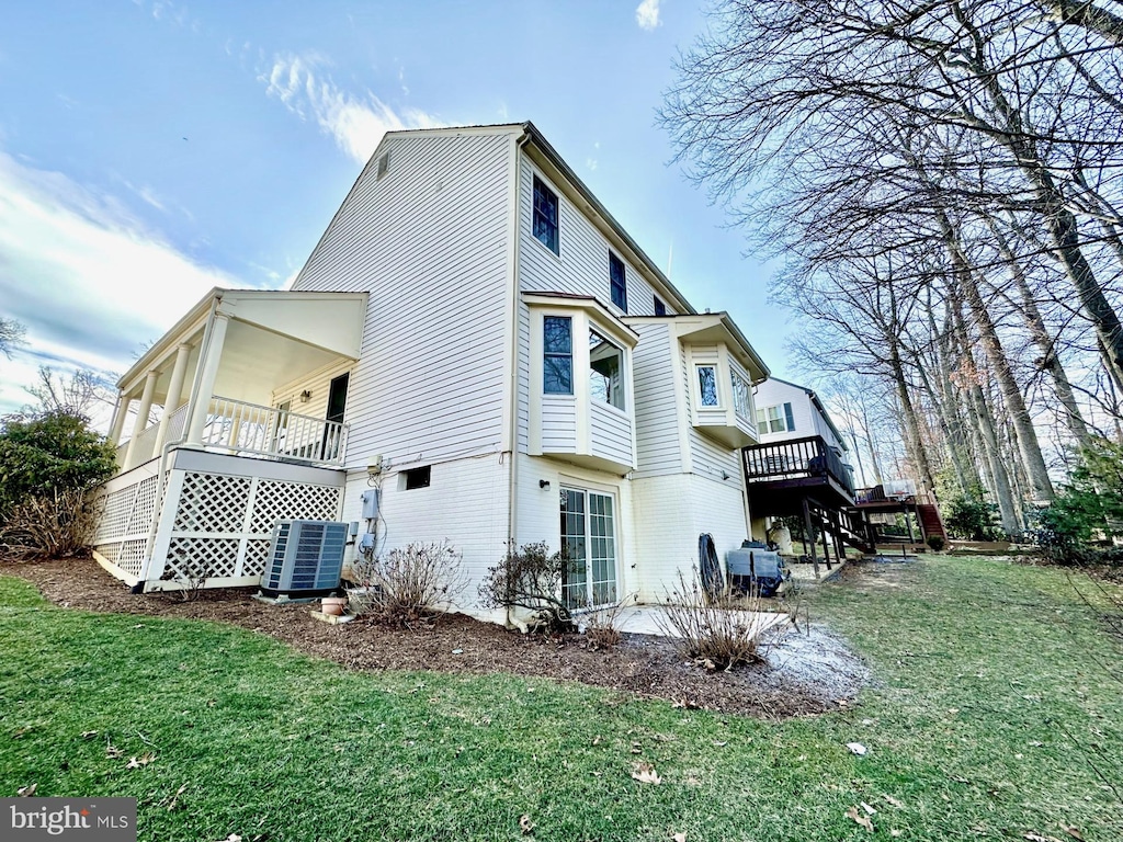
[{"label": "bare twiggy shrub in front of the patio, nearest the grill", "polygon": [[730,670],[764,660],[754,615],[758,608],[758,597],[738,597],[728,587],[712,598],[696,569],[688,583],[679,570],[678,585],[665,593],[656,622],[683,655],[702,660],[707,669]]}]

